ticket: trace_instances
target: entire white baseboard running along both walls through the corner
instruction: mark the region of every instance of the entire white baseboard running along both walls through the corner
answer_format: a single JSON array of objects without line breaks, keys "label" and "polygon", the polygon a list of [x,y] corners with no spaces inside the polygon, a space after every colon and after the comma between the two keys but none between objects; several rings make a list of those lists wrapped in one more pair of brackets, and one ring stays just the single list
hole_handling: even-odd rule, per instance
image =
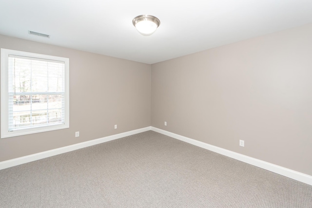
[{"label": "entire white baseboard running along both walls through the corner", "polygon": [[158,129],[158,128],[155,128],[155,127],[145,127],[145,128],[142,128],[142,129],[137,129],[137,130],[133,130],[133,131],[129,131],[129,132],[118,133],[118,134],[111,135],[111,136],[105,136],[105,137],[102,137],[102,138],[98,138],[98,139],[94,139],[94,140],[90,140],[90,141],[86,141],[86,142],[81,142],[81,143],[78,143],[78,144],[69,145],[69,146],[61,147],[61,148],[54,149],[54,150],[43,151],[43,152],[39,152],[39,153],[36,153],[36,154],[31,154],[31,155],[27,155],[27,156],[11,159],[11,160],[6,160],[6,161],[3,161],[3,162],[0,162],[0,170],[6,169],[6,168],[10,168],[10,167],[13,167],[13,166],[17,166],[17,165],[21,165],[21,164],[24,164],[24,163],[32,162],[32,161],[35,161],[35,160],[43,159],[43,158],[46,158],[46,157],[51,157],[51,156],[54,156],[54,155],[62,154],[62,153],[65,153],[65,152],[74,151],[74,150],[78,150],[78,149],[81,149],[81,148],[97,145],[97,144],[100,144],[100,143],[104,143],[104,142],[108,142],[108,141],[111,141],[111,140],[119,139],[119,138],[122,138],[122,137],[125,137],[125,136],[130,136],[130,135],[133,135],[133,134],[146,132],[146,131],[149,131],[149,130],[152,130],[154,132],[158,132],[158,133],[161,133],[161,134],[164,134],[164,135],[176,138],[178,140],[181,140],[181,141],[193,144],[195,146],[204,148],[206,150],[214,151],[216,153],[219,153],[219,154],[222,154],[222,155],[234,158],[236,160],[239,160],[239,161],[242,161],[242,162],[254,165],[256,167],[259,167],[259,168],[262,168],[262,169],[265,169],[265,170],[269,170],[269,171],[275,172],[275,173],[280,174],[280,175],[284,175],[286,177],[292,178],[294,180],[297,180],[297,181],[300,181],[300,182],[303,182],[303,183],[306,183],[306,184],[309,184],[309,185],[312,186],[312,176],[311,175],[307,175],[307,174],[304,174],[304,173],[301,173],[301,172],[298,172],[298,171],[295,171],[295,170],[287,169],[287,168],[284,168],[284,167],[281,167],[281,166],[277,166],[277,165],[274,165],[272,163],[268,163],[268,162],[265,162],[265,161],[262,161],[262,160],[258,160],[258,159],[255,159],[253,157],[249,157],[249,156],[246,156],[246,155],[243,155],[243,154],[239,154],[239,153],[234,152],[234,151],[229,151],[229,150],[226,150],[226,149],[223,149],[223,148],[219,148],[219,147],[216,147],[216,146],[213,146],[213,145],[201,142],[201,141],[197,141],[195,139],[191,139],[191,138],[188,138],[188,137],[185,137],[185,136],[181,136],[181,135],[178,135],[178,134],[172,133],[172,132],[167,132],[165,130]]}]

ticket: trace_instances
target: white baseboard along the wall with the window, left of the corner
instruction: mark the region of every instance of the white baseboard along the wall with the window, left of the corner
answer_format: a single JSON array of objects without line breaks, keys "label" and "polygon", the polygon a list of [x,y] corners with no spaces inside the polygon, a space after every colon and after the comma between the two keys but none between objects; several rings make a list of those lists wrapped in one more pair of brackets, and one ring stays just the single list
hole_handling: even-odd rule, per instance
[{"label": "white baseboard along the wall with the window, left of the corner", "polygon": [[115,135],[111,135],[111,136],[105,136],[99,139],[94,139],[94,140],[90,140],[90,141],[86,141],[86,142],[81,142],[78,144],[74,144],[74,145],[69,145],[66,147],[61,147],[61,148],[57,148],[54,150],[49,150],[49,151],[42,151],[36,154],[30,154],[27,156],[23,156],[23,157],[18,157],[15,159],[11,159],[11,160],[6,160],[3,162],[0,162],[0,170],[2,169],[6,169],[6,168],[10,168],[13,166],[17,166],[17,165],[21,165],[24,163],[29,163],[35,160],[40,160],[46,157],[51,157],[54,155],[58,155],[58,154],[62,154],[65,152],[69,152],[69,151],[74,151],[74,150],[78,150],[81,148],[85,148],[85,147],[89,147],[89,146],[93,146],[93,145],[97,145],[103,142],[108,142],[114,139],[119,139],[125,136],[130,136],[133,134],[137,134],[137,133],[141,133],[141,132],[146,132],[151,130],[151,127],[145,127],[142,129],[137,129],[137,130],[133,130],[133,131],[129,131],[129,132],[123,132],[123,133],[118,133]]}]

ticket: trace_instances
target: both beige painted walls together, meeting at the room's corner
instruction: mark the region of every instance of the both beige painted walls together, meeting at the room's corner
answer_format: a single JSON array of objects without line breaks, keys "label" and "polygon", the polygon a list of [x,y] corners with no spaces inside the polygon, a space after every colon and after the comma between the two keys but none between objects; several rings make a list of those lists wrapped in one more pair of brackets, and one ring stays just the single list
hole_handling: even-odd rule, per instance
[{"label": "both beige painted walls together, meeting at the room's corner", "polygon": [[152,125],[312,175],[311,37],[309,24],[151,66],[0,35],[70,58],[70,128],[0,139],[0,161]]}]

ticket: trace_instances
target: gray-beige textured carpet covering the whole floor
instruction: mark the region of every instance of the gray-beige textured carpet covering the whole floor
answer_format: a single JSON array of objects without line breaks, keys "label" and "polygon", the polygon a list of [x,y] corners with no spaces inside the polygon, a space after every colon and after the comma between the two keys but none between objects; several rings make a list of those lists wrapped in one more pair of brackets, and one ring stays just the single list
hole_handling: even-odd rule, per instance
[{"label": "gray-beige textured carpet covering the whole floor", "polygon": [[312,186],[148,131],[0,170],[1,208],[312,208]]}]

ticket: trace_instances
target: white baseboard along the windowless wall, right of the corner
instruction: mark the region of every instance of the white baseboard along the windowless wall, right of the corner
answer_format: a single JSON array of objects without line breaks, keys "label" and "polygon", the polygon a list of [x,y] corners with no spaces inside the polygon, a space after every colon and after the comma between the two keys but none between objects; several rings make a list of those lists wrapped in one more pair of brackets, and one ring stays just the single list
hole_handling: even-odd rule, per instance
[{"label": "white baseboard along the windowless wall, right of the corner", "polygon": [[172,132],[167,132],[165,130],[158,129],[155,127],[152,127],[152,131],[158,132],[158,133],[161,133],[161,134],[173,137],[173,138],[176,138],[178,140],[190,143],[192,145],[204,148],[206,150],[214,151],[216,153],[223,154],[225,156],[228,156],[228,157],[234,158],[236,160],[254,165],[256,167],[259,167],[259,168],[262,168],[265,170],[269,170],[271,172],[275,172],[277,174],[292,178],[294,180],[312,185],[312,176],[311,175],[307,175],[307,174],[304,174],[301,172],[290,170],[290,169],[287,169],[287,168],[284,168],[281,166],[274,165],[272,163],[268,163],[268,162],[265,162],[262,160],[258,160],[258,159],[255,159],[253,157],[249,157],[249,156],[246,156],[243,154],[236,153],[234,151],[229,151],[229,150],[226,150],[223,148],[219,148],[219,147],[216,147],[216,146],[204,143],[204,142],[197,141],[195,139],[191,139],[191,138],[188,138],[185,136],[181,136],[181,135],[178,135],[178,134],[172,133]]}]

